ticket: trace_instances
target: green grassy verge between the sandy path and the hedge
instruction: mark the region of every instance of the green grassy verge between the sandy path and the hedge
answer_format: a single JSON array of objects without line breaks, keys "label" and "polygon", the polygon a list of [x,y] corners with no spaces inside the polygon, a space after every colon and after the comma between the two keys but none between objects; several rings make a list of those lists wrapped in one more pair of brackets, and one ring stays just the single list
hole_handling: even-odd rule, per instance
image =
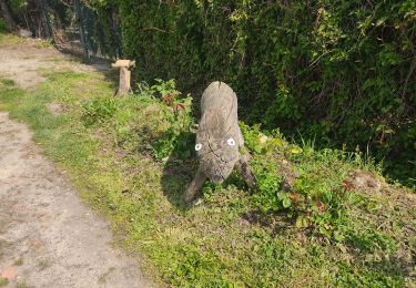
[{"label": "green grassy verge between the sandy path and the hedge", "polygon": [[[29,125],[34,142],[111,220],[119,244],[142,256],[155,281],[415,285],[415,198],[390,187],[375,194],[343,189],[353,168],[377,173],[361,153],[315,151],[311,143],[286,142],[278,132],[268,135],[272,144],[260,145],[261,130],[245,127],[261,187],[250,192],[233,174],[223,185],[206,183],[204,202],[190,207],[181,199],[197,165],[189,112],[172,114],[154,91],[114,99],[113,84],[98,73],[48,78],[30,93],[2,80],[0,107]],[[61,103],[64,112],[53,116],[45,107],[50,102]],[[276,194],[283,158],[298,173],[296,195]]]}]

